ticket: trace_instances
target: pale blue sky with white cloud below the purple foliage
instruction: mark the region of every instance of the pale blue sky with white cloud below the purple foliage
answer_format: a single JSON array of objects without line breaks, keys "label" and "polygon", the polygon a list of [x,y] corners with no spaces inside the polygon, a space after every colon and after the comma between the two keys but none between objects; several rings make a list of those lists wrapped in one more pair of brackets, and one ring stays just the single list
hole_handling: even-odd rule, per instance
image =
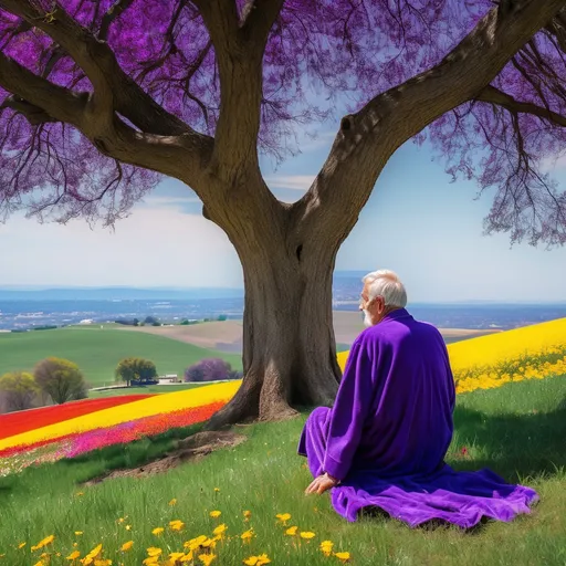
[{"label": "pale blue sky with white cloud below the purple foliage", "polygon": [[[262,161],[280,199],[303,195],[337,127],[325,125],[318,139],[304,139],[302,154],[276,170]],[[410,142],[391,157],[336,269],[392,269],[411,302],[566,301],[566,249],[510,249],[507,234],[483,237],[490,195],[474,201],[476,186],[450,184],[443,163],[431,157],[428,146]],[[566,159],[554,174],[566,186]],[[200,210],[192,191],[165,180],[114,232],[91,230],[84,221],[39,224],[13,216],[0,224],[0,286],[242,286],[232,245]]]}]

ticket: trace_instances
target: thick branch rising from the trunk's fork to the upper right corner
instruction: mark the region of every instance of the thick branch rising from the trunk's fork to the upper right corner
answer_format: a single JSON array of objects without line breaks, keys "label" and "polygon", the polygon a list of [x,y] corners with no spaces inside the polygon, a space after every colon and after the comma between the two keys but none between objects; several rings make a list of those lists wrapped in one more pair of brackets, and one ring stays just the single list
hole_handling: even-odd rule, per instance
[{"label": "thick branch rising from the trunk's fork to the upper right corner", "polygon": [[321,172],[293,207],[295,218],[308,217],[305,229],[314,229],[311,222],[321,230],[333,227],[328,233],[342,242],[392,153],[438,117],[476,98],[565,7],[566,0],[523,0],[494,8],[438,65],[345,116]]}]

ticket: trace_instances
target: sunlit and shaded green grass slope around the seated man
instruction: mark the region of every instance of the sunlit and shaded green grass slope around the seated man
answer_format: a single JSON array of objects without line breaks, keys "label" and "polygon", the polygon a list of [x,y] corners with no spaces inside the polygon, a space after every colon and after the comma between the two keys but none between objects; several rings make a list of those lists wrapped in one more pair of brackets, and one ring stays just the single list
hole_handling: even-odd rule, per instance
[{"label": "sunlit and shaded green grass slope around the seated man", "polygon": [[[514,522],[490,522],[472,533],[454,528],[410,530],[387,518],[363,518],[347,523],[333,511],[327,495],[305,496],[311,476],[296,444],[306,413],[280,422],[238,427],[249,436],[235,449],[218,451],[197,463],[188,463],[167,474],[147,479],[123,478],[90,489],[80,483],[106,470],[143,465],[149,457],[167,451],[172,438],[166,436],[111,447],[81,459],[60,461],[19,475],[0,479],[0,554],[6,564],[34,564],[29,551],[42,537],[54,534],[55,549],[66,556],[73,542],[84,555],[103,543],[114,564],[139,565],[149,546],[164,552],[182,549],[182,542],[210,534],[217,522],[208,513],[222,511],[229,534],[239,535],[253,526],[256,538],[250,547],[241,541],[228,543],[213,564],[241,565],[251,554],[265,552],[273,565],[337,564],[317,549],[332,539],[335,549],[349,551],[355,565],[563,565],[566,560],[566,379],[548,378],[509,384],[500,389],[475,391],[458,397],[455,436],[448,462],[457,469],[489,467],[507,481],[535,488],[541,503],[531,515]],[[459,455],[467,447],[469,458]],[[214,488],[220,488],[216,493]],[[84,491],[83,496],[76,492]],[[169,500],[178,503],[171,507]],[[250,523],[242,511],[250,510]],[[316,533],[316,538],[291,546],[283,527],[275,525],[276,513],[291,513],[290,525]],[[127,515],[124,524],[118,517]],[[171,520],[186,522],[186,532],[151,535],[156,526]],[[132,531],[125,531],[126,524]],[[84,535],[75,537],[74,531]],[[116,554],[124,542],[134,549],[123,560]],[[14,549],[28,542],[22,551]],[[66,553],[66,554],[65,554]],[[38,553],[36,553],[38,554]],[[52,564],[63,564],[54,560]]]}]

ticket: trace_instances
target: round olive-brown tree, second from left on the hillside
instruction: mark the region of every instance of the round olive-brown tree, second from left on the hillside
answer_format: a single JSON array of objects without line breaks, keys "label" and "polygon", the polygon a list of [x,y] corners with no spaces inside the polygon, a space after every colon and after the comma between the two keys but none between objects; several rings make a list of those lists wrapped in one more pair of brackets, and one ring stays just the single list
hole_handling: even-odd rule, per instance
[{"label": "round olive-brown tree, second from left on the hillside", "polygon": [[78,366],[69,359],[43,359],[35,366],[33,376],[39,388],[57,405],[87,397],[84,376]]}]

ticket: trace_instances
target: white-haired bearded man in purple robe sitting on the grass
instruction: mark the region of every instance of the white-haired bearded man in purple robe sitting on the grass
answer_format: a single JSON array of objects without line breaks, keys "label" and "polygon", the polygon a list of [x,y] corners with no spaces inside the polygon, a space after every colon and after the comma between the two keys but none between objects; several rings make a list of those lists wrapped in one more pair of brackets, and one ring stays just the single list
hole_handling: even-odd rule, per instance
[{"label": "white-haired bearded man in purple robe sitting on the grass", "polygon": [[455,391],[442,336],[406,311],[394,272],[363,282],[368,328],[352,346],[334,407],[315,409],[301,434],[298,453],[315,478],[306,493],[332,489],[334,509],[348,521],[378,509],[410,526],[440,521],[468,528],[483,517],[528,513],[538,499],[532,489],[444,463]]}]

